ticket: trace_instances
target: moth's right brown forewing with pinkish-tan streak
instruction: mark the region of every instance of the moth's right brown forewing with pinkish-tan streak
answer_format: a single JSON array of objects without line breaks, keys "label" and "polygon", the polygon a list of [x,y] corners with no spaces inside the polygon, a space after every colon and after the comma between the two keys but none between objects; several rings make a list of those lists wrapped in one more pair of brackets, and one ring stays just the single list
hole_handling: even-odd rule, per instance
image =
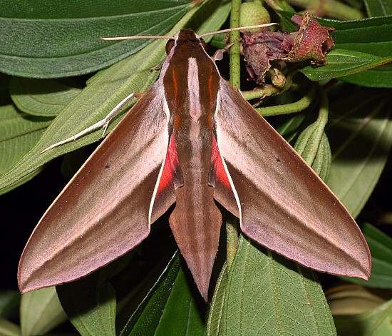
[{"label": "moth's right brown forewing with pinkish-tan streak", "polygon": [[[220,88],[217,146],[242,232],[314,270],[368,278],[368,245],[344,205],[238,91]],[[215,198],[227,202],[219,189]]]}]

